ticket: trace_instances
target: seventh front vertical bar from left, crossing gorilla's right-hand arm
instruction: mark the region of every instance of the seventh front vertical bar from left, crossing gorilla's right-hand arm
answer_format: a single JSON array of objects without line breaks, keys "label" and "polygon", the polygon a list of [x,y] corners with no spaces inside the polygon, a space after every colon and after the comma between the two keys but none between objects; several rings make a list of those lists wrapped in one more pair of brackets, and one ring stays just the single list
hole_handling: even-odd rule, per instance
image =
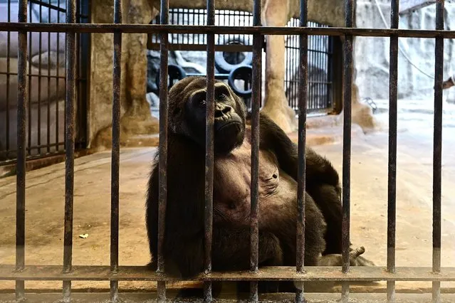
[{"label": "seventh front vertical bar from left, crossing gorilla's right-hand arm", "polygon": [[[308,0],[300,0],[300,27],[308,26]],[[308,36],[300,35],[299,41],[299,83],[298,83],[298,186],[297,186],[297,260],[296,270],[305,270],[305,145],[306,145],[306,112],[308,102]],[[305,302],[303,283],[296,287],[296,302]]]}]

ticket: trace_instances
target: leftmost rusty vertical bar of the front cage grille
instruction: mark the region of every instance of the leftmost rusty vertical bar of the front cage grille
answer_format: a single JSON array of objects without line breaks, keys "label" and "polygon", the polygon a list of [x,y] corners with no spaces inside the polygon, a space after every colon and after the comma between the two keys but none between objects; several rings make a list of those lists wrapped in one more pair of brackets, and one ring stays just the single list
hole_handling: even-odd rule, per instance
[{"label": "leftmost rusty vertical bar of the front cage grille", "polygon": [[[27,1],[19,1],[18,21],[27,22]],[[17,164],[16,164],[16,270],[25,266],[25,184],[26,184],[26,119],[27,119],[27,32],[18,33],[17,67]],[[16,281],[16,299],[24,299],[23,280]]]}]

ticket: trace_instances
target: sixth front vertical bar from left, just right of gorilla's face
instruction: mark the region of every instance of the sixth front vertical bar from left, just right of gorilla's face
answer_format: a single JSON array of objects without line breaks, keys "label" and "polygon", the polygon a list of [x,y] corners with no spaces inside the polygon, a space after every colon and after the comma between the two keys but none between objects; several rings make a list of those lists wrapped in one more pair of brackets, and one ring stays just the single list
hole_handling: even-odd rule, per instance
[{"label": "sixth front vertical bar from left, just right of gorilla's face", "polygon": [[[261,26],[261,0],[254,0],[253,26]],[[262,37],[253,35],[253,75],[251,75],[251,211],[250,211],[250,270],[258,270],[258,196],[259,196],[259,108],[261,107]],[[250,283],[250,301],[258,302],[258,281]]]}]

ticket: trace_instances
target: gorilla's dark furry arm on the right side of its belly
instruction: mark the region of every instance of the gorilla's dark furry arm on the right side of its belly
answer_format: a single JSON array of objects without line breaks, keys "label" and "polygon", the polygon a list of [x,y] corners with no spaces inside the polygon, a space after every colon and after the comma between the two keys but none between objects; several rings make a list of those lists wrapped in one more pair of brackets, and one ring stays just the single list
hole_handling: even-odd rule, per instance
[{"label": "gorilla's dark furry arm on the right side of its belly", "polygon": [[[281,169],[293,179],[298,175],[298,145],[266,115],[259,118],[261,148],[276,154]],[[337,171],[330,161],[310,147],[305,149],[305,189],[322,211],[327,223],[326,253],[341,253],[342,204]]]}]

